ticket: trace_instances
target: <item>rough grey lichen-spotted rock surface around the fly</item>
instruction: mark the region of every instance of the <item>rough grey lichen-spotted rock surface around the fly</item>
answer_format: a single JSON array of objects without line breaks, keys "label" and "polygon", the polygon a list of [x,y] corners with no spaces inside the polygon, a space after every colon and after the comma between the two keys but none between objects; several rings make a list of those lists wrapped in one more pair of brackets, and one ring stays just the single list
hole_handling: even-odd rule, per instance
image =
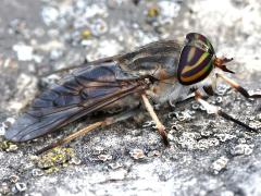
[{"label": "rough grey lichen-spotted rock surface around the fly", "polygon": [[[260,91],[259,0],[0,3],[1,135],[38,90],[57,79],[37,75],[189,32],[207,35],[219,56],[234,57],[229,68],[237,74],[231,77]],[[261,126],[259,100],[246,100],[224,84],[217,94],[212,103]],[[84,122],[18,146],[1,137],[0,195],[261,195],[260,134],[208,115],[196,102],[159,113],[169,148],[149,121],[97,130],[40,158],[35,149]]]}]

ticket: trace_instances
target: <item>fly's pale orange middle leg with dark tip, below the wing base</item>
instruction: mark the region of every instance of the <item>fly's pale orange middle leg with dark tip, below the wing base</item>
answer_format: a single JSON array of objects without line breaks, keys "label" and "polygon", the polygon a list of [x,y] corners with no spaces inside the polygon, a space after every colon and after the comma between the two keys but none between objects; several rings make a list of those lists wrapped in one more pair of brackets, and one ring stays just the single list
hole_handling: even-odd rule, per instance
[{"label": "fly's pale orange middle leg with dark tip, below the wing base", "polygon": [[160,120],[157,117],[157,113],[154,112],[153,107],[151,106],[151,103],[150,103],[149,99],[147,98],[147,96],[145,94],[141,94],[141,97],[142,97],[142,101],[145,103],[145,108],[147,109],[147,111],[149,112],[150,117],[154,121],[157,130],[160,133],[164,144],[167,146],[169,145],[169,140],[167,140],[167,134],[165,132],[165,126],[160,122]]}]

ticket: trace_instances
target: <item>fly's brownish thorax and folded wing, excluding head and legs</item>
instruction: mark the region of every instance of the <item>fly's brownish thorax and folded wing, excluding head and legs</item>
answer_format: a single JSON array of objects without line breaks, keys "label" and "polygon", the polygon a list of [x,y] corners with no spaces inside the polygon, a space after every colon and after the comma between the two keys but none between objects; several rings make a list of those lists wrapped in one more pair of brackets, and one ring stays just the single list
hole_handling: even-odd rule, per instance
[{"label": "fly's brownish thorax and folded wing, excluding head and legs", "polygon": [[[150,91],[156,102],[169,100],[176,89],[182,47],[177,41],[162,40],[82,65],[36,98],[8,130],[5,138],[25,142],[94,111],[137,107],[145,90]],[[178,93],[175,94],[172,99],[178,98]]]}]

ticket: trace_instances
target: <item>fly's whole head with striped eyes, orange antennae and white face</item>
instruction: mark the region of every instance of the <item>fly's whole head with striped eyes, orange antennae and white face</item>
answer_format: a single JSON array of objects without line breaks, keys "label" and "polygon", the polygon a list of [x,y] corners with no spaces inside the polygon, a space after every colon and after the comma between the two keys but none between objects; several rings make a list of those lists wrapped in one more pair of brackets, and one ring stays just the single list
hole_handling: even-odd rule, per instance
[{"label": "fly's whole head with striped eyes, orange antennae and white face", "polygon": [[177,65],[177,79],[184,86],[196,86],[206,91],[207,87],[215,86],[216,69],[234,73],[225,65],[232,60],[216,58],[213,46],[203,35],[187,34]]}]

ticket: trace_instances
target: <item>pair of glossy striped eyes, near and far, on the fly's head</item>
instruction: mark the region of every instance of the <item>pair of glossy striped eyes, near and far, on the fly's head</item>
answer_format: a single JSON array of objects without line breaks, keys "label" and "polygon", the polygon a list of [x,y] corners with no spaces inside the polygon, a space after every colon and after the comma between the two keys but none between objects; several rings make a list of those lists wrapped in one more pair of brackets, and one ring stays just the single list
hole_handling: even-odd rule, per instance
[{"label": "pair of glossy striped eyes, near and far, on the fly's head", "polygon": [[192,85],[204,79],[213,70],[214,49],[200,34],[188,34],[177,66],[177,78],[183,85]]}]

